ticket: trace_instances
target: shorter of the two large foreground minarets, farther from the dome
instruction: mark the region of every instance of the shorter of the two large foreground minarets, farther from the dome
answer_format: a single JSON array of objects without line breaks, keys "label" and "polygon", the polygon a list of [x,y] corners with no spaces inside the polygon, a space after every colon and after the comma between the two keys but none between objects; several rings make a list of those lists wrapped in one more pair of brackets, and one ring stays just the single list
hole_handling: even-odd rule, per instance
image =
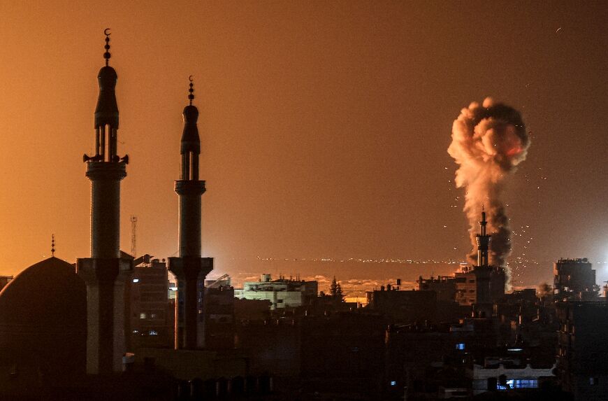
[{"label": "shorter of the two large foreground minarets, farther from the dome", "polygon": [[[204,346],[202,304],[205,276],[213,269],[212,258],[201,258],[201,195],[205,181],[198,179],[198,109],[192,105],[194,84],[190,77],[189,105],[184,108],[184,132],[180,180],[175,192],[180,197],[179,257],[169,258],[168,267],[178,279],[178,302],[175,302],[175,349],[197,349]],[[200,292],[200,294],[199,294]],[[183,302],[183,304],[182,304]],[[182,305],[180,305],[182,304]]]}]

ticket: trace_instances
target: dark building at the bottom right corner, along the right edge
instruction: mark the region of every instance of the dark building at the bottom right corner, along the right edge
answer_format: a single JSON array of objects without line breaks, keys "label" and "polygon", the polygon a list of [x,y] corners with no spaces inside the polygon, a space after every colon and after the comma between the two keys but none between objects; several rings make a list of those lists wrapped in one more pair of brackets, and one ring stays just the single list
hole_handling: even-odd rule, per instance
[{"label": "dark building at the bottom right corner, along the right edge", "polygon": [[608,302],[558,302],[558,377],[575,400],[606,400]]}]

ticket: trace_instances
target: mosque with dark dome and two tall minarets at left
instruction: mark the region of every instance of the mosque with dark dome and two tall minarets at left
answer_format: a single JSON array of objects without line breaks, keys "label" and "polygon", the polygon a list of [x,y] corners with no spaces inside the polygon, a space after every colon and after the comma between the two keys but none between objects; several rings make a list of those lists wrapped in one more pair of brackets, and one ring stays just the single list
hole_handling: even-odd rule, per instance
[{"label": "mosque with dark dome and two tall minarets at left", "polygon": [[[120,244],[120,181],[129,156],[117,152],[119,113],[117,73],[110,66],[110,34],[105,66],[98,74],[95,153],[84,155],[91,181],[91,256],[75,265],[51,258],[24,269],[0,292],[0,388],[27,390],[73,384],[85,377],[112,377],[123,372],[128,349],[129,288],[133,258]],[[212,270],[212,258],[201,258],[201,195],[198,179],[201,143],[198,109],[184,108],[180,197],[179,256],[169,269],[178,279],[182,307],[176,308],[175,349],[200,349],[202,322],[196,311],[197,283]]]}]

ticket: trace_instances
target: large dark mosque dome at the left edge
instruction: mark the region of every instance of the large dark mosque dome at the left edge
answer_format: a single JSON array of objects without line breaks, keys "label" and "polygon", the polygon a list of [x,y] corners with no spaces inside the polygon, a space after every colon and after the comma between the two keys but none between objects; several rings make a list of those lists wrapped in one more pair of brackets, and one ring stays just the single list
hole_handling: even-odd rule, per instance
[{"label": "large dark mosque dome at the left edge", "polygon": [[86,304],[74,266],[55,257],[24,269],[3,288],[1,391],[65,386],[84,376]]}]

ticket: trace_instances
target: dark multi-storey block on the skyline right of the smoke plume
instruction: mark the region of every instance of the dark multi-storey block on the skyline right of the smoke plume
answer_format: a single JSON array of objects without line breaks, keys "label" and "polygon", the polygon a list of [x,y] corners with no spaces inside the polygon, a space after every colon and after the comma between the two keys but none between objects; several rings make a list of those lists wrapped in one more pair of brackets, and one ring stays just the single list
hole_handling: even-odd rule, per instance
[{"label": "dark multi-storey block on the skyline right of the smoke plume", "polygon": [[553,295],[556,301],[591,301],[598,297],[595,270],[587,258],[560,259],[553,264]]}]

